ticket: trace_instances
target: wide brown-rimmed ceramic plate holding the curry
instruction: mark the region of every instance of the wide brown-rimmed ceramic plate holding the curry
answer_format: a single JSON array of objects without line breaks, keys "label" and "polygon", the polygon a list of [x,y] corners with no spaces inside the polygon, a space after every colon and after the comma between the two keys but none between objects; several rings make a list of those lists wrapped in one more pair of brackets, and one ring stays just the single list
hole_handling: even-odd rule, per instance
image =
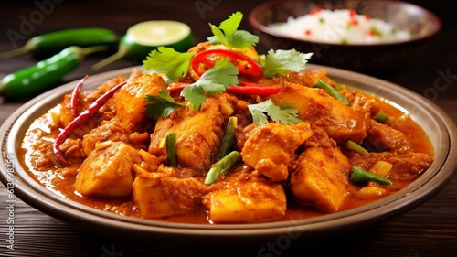
[{"label": "wide brown-rimmed ceramic plate holding the curry", "polygon": [[[93,209],[64,198],[37,182],[21,160],[20,145],[35,119],[48,112],[73,90],[77,81],[48,91],[25,103],[0,128],[0,180],[13,183],[17,198],[81,230],[101,234],[130,247],[166,256],[273,256],[267,247],[303,252],[316,243],[387,220],[427,201],[445,187],[457,171],[457,128],[433,102],[385,80],[352,71],[310,64],[307,70],[326,69],[328,76],[352,88],[373,93],[408,112],[429,136],[434,162],[417,180],[398,192],[365,206],[304,220],[259,224],[186,224],[125,217]],[[90,90],[105,80],[128,75],[131,68],[90,77]],[[13,177],[13,182],[10,182]],[[8,187],[10,187],[9,185]],[[270,245],[270,246],[269,246]],[[276,256],[276,255],[274,255]]]}]

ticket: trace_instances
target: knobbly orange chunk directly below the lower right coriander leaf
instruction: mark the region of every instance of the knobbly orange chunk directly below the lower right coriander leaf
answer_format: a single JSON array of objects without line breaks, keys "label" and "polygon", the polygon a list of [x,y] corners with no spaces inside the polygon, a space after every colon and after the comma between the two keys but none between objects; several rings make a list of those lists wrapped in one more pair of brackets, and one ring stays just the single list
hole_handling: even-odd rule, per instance
[{"label": "knobbly orange chunk directly below the lower right coriander leaf", "polygon": [[295,150],[313,134],[309,123],[250,125],[245,131],[248,136],[241,151],[244,163],[273,181],[289,177]]}]

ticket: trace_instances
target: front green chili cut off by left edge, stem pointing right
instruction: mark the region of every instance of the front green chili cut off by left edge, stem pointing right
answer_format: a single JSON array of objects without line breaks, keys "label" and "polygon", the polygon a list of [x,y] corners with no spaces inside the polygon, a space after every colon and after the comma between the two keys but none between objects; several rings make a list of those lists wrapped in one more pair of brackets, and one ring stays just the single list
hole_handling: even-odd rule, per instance
[{"label": "front green chili cut off by left edge, stem pointing right", "polygon": [[0,95],[19,98],[47,91],[56,86],[70,71],[75,70],[86,55],[101,50],[106,50],[106,47],[65,48],[36,65],[6,75],[0,80]]}]

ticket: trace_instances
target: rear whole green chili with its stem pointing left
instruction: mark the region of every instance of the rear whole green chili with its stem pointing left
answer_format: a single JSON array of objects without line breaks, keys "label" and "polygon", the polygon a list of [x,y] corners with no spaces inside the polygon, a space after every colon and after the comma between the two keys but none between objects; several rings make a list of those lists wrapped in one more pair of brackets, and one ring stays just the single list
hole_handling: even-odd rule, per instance
[{"label": "rear whole green chili with its stem pointing left", "polygon": [[110,29],[99,27],[71,28],[32,37],[24,47],[0,53],[0,59],[12,58],[26,53],[33,53],[37,59],[46,59],[72,46],[89,48],[103,45],[108,48],[116,48],[118,42],[119,36]]}]

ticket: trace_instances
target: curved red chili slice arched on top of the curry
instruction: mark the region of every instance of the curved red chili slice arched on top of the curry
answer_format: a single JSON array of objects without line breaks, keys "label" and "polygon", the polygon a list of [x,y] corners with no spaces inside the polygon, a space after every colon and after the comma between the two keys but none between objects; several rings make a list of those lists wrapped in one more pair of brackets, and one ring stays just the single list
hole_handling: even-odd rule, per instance
[{"label": "curved red chili slice arched on top of the curry", "polygon": [[224,49],[209,49],[197,53],[191,61],[192,69],[201,76],[207,68],[214,67],[219,58],[228,58],[238,68],[239,73],[259,78],[263,75],[260,64],[243,54]]}]

